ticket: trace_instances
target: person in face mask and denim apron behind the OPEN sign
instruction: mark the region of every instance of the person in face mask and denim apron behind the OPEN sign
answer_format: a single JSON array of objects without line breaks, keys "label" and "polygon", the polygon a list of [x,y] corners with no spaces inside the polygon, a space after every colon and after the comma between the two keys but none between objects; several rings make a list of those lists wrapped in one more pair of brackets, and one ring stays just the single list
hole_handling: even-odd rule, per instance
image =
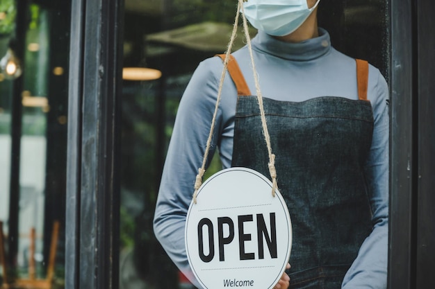
[{"label": "person in face mask and denim apron behind the OPEN sign", "polygon": [[[375,67],[358,62],[356,69],[354,59],[331,47],[318,28],[317,6],[315,0],[244,3],[258,28],[254,61],[279,189],[292,218],[290,288],[386,288],[388,88]],[[268,150],[249,92],[255,91],[249,51],[232,55],[242,76],[224,80],[209,156],[219,148],[224,168],[245,166],[267,176]],[[184,224],[221,71],[220,58],[204,60],[183,94],[154,218],[158,240],[196,285]],[[236,87],[234,78],[247,87]],[[288,287],[286,274],[275,287]]]}]

